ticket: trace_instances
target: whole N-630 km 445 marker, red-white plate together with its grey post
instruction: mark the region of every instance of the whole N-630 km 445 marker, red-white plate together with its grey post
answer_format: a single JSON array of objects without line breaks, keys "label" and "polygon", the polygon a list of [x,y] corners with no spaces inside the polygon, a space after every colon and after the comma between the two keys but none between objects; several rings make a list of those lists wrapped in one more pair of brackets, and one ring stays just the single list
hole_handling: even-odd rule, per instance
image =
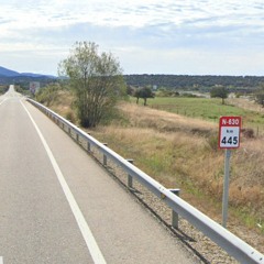
[{"label": "whole N-630 km 445 marker, red-white plate together with its grey post", "polygon": [[227,228],[229,201],[229,172],[231,150],[240,146],[241,117],[221,117],[219,120],[219,148],[226,150],[222,196],[222,226]]}]

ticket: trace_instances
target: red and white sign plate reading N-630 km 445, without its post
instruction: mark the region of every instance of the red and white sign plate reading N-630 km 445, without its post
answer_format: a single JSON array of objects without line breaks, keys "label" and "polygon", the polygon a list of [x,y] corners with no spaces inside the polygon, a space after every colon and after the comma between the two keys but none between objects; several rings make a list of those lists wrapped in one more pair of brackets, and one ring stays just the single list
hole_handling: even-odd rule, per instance
[{"label": "red and white sign plate reading N-630 km 445, without its post", "polygon": [[220,148],[238,148],[240,146],[241,117],[221,117],[219,120]]}]

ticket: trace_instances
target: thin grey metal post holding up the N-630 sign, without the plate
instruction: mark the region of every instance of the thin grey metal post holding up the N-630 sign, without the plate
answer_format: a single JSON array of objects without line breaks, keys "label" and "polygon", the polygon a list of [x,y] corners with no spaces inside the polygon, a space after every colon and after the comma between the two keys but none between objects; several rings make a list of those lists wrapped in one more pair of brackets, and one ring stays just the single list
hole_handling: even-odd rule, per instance
[{"label": "thin grey metal post holding up the N-630 sign, without the plate", "polygon": [[231,151],[226,150],[224,182],[223,182],[223,196],[222,196],[222,226],[223,226],[223,228],[227,228],[227,222],[228,222],[230,157],[231,157]]}]

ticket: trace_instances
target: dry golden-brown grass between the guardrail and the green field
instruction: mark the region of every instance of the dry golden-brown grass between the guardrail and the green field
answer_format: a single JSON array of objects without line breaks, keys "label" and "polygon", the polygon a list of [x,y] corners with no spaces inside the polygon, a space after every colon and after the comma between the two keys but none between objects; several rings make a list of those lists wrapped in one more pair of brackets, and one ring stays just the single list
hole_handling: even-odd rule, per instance
[{"label": "dry golden-brown grass between the guardrail and the green field", "polygon": [[[100,128],[95,131],[97,136],[121,155],[134,158],[139,167],[166,187],[182,188],[191,204],[202,202],[202,196],[221,200],[224,154],[208,143],[209,136],[217,136],[216,124],[131,103],[120,109],[129,124]],[[243,139],[231,158],[230,204],[256,219],[264,217],[262,144],[262,139]],[[205,205],[200,209],[208,210]]]}]

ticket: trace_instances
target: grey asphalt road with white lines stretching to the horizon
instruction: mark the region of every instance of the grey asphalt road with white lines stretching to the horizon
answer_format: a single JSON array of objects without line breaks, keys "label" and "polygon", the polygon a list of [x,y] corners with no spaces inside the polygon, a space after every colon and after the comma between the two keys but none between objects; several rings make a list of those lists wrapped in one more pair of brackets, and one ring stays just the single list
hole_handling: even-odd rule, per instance
[{"label": "grey asphalt road with white lines stretching to the horizon", "polygon": [[198,263],[59,128],[0,97],[0,264]]}]

